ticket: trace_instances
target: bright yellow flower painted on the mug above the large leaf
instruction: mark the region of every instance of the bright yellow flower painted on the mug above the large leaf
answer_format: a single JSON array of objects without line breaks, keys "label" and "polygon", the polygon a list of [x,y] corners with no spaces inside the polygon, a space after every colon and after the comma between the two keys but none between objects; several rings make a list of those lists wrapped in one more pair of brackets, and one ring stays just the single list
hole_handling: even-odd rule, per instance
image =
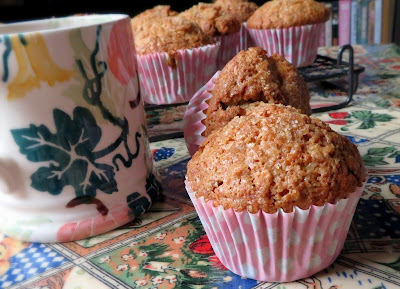
[{"label": "bright yellow flower painted on the mug above the large leaf", "polygon": [[[22,41],[23,40],[23,41]],[[60,68],[50,57],[49,50],[40,33],[32,33],[21,39],[19,35],[10,37],[18,63],[18,72],[8,85],[8,100],[24,97],[41,82],[54,86],[56,82],[69,80],[73,71]]]}]

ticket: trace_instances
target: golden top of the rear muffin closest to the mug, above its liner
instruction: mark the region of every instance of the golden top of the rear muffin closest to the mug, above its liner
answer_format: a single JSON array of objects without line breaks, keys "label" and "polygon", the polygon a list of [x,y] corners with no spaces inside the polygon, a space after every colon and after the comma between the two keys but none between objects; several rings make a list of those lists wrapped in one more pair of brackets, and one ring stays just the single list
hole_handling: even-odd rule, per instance
[{"label": "golden top of the rear muffin closest to the mug, above its liner", "polygon": [[135,34],[134,41],[137,54],[167,52],[170,56],[175,55],[179,49],[215,43],[212,37],[203,33],[197,23],[179,16],[148,21]]}]

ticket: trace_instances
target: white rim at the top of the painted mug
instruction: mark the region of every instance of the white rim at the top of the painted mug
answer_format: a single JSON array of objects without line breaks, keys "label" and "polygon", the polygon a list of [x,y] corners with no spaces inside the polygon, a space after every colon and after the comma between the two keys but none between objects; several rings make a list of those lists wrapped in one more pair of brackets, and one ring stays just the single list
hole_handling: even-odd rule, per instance
[{"label": "white rim at the top of the painted mug", "polygon": [[[107,19],[106,17],[110,17]],[[90,20],[92,18],[95,20],[96,18],[104,18],[104,20],[93,21],[93,23],[85,23],[84,19]],[[108,24],[114,23],[124,19],[130,19],[128,14],[123,13],[96,13],[96,14],[87,14],[87,15],[70,15],[65,17],[54,17],[54,18],[43,18],[36,20],[26,20],[26,21],[18,21],[11,23],[3,23],[0,24],[0,37],[5,35],[26,35],[30,33],[51,33],[51,32],[60,32],[72,29],[80,29],[97,26],[99,24]],[[68,23],[67,25],[62,25],[61,23],[65,20],[74,19],[77,20],[75,23]],[[82,21],[79,23],[79,21]],[[54,27],[51,27],[54,25]],[[10,32],[7,32],[9,30]]]}]

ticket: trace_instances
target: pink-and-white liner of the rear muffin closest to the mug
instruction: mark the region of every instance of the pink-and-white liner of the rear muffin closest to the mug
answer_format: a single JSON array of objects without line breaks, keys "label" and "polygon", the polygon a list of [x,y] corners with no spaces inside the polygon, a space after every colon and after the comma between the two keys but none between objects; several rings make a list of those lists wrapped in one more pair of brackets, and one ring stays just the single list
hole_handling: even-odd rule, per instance
[{"label": "pink-and-white liner of the rear muffin closest to the mug", "polygon": [[143,100],[149,104],[184,103],[217,71],[220,43],[177,52],[177,67],[167,65],[168,53],[138,55]]}]

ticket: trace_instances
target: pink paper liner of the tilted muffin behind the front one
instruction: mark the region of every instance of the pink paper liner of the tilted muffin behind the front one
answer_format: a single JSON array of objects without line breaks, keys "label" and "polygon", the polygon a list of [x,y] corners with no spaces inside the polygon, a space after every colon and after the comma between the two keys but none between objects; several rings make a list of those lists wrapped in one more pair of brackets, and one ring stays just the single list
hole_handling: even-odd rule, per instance
[{"label": "pink paper liner of the tilted muffin behind the front one", "polygon": [[186,142],[186,147],[189,154],[192,156],[199,149],[200,144],[206,139],[201,134],[206,127],[202,120],[206,118],[203,112],[208,108],[207,100],[211,98],[211,91],[214,89],[214,82],[217,79],[220,71],[217,71],[214,76],[202,87],[186,107],[183,117],[184,128],[183,134]]}]

